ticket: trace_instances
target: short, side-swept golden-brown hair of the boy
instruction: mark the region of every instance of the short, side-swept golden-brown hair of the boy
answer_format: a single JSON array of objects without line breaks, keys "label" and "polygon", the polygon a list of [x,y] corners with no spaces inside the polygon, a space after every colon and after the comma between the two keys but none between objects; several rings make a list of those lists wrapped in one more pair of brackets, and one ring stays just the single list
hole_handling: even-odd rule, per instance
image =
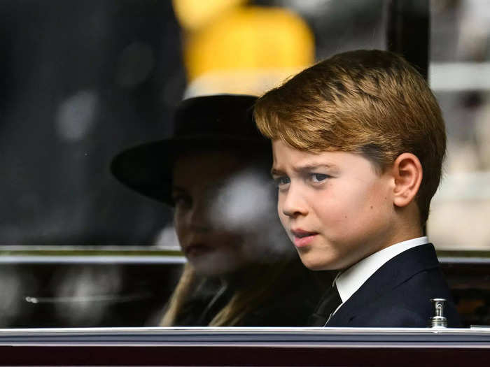
[{"label": "short, side-swept golden-brown hair of the boy", "polygon": [[393,52],[344,52],[305,69],[255,103],[258,129],[307,152],[358,152],[379,172],[403,152],[421,161],[416,203],[425,224],[446,151],[442,113],[426,80]]}]

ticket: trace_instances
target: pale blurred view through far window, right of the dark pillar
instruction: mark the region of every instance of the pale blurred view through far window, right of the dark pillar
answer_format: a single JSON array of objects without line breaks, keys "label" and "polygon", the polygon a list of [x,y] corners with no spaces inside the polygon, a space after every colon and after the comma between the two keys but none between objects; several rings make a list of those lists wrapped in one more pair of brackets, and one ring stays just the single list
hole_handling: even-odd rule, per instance
[{"label": "pale blurred view through far window, right of the dark pillar", "polygon": [[430,85],[448,139],[428,222],[440,249],[490,248],[489,16],[486,1],[431,1]]}]

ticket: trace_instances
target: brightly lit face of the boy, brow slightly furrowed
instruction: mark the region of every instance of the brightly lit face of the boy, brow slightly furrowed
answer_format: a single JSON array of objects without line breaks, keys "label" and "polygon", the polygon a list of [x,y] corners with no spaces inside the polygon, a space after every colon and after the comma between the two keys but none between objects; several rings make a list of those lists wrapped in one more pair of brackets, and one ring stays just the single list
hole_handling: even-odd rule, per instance
[{"label": "brightly lit face of the boy, brow slightly furrowed", "polygon": [[[395,239],[395,181],[360,154],[296,150],[273,141],[277,210],[303,264],[347,268]],[[393,242],[395,241],[395,242]]]}]

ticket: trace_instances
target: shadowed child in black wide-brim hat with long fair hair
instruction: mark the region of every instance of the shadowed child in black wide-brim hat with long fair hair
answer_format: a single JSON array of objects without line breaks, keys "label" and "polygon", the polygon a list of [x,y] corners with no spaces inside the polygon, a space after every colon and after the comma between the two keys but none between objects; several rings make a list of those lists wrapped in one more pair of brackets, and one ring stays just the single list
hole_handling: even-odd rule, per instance
[{"label": "shadowed child in black wide-brim hat with long fair hair", "polygon": [[172,138],[127,150],[113,173],[174,206],[188,259],[162,326],[304,326],[321,291],[283,233],[253,96],[187,99]]}]

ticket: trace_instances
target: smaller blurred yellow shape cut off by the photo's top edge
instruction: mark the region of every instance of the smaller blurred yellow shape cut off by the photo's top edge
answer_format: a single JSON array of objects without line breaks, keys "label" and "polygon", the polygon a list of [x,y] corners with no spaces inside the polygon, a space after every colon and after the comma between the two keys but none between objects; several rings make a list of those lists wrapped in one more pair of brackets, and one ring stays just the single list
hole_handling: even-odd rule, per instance
[{"label": "smaller blurred yellow shape cut off by the photo's top edge", "polygon": [[206,26],[214,17],[246,3],[247,0],[172,0],[174,11],[184,29]]}]

